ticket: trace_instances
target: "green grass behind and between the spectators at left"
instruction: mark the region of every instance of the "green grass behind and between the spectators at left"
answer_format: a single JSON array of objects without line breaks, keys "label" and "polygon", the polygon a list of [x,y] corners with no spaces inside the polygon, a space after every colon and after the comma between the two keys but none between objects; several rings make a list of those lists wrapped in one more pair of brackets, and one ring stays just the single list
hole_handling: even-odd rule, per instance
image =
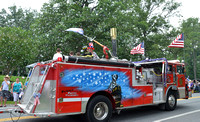
[{"label": "green grass behind and between the spectators at left", "polygon": [[[2,82],[4,81],[4,77],[5,77],[5,75],[0,75],[0,84],[2,84]],[[26,77],[22,78],[22,76],[12,76],[10,78],[11,83],[15,82],[16,78],[19,78],[19,81],[22,82],[22,84],[25,83]],[[9,90],[10,89],[11,89],[11,85],[10,85]],[[6,104],[14,104],[14,101],[7,101]]]}]

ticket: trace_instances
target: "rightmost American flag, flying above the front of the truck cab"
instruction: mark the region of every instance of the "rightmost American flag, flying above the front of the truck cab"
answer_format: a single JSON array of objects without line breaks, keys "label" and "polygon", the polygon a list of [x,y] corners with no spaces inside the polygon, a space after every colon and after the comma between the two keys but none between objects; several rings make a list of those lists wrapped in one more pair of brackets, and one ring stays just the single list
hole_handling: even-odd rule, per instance
[{"label": "rightmost American flag, flying above the front of the truck cab", "polygon": [[168,46],[169,48],[184,48],[184,35],[183,33],[176,37],[176,39]]}]

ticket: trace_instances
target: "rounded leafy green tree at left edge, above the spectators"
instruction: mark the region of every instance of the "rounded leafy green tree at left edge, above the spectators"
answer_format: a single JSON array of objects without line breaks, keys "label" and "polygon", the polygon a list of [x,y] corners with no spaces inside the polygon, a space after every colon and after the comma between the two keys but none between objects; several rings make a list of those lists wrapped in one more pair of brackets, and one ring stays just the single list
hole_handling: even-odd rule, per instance
[{"label": "rounded leafy green tree at left edge, above the spectators", "polygon": [[[0,27],[0,65],[3,74],[13,74],[32,62],[35,50],[30,31],[17,27]],[[20,73],[20,72],[19,72]]]}]

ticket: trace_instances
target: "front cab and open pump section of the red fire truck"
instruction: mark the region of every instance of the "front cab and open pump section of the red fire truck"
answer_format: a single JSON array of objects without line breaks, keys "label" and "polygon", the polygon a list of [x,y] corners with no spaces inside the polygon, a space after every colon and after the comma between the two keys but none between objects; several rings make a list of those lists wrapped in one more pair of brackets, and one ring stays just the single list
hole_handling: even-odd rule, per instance
[{"label": "front cab and open pump section of the red fire truck", "polygon": [[[139,78],[136,76],[134,86],[150,88],[149,94],[152,93],[153,96],[150,100],[153,101],[153,104],[164,105],[166,110],[174,110],[177,99],[188,99],[184,63],[161,58],[144,60],[134,64],[137,65],[136,75],[139,72]],[[151,101],[149,103],[151,104]]]}]

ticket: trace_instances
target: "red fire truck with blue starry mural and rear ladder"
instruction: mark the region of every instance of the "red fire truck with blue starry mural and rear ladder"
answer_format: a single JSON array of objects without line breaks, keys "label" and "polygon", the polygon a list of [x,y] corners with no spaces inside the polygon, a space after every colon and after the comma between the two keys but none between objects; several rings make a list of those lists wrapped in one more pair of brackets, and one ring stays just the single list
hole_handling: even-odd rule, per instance
[{"label": "red fire truck with blue starry mural and rear ladder", "polygon": [[19,107],[33,116],[84,114],[88,121],[106,122],[113,111],[136,106],[174,110],[178,98],[188,98],[184,64],[178,61],[65,56],[32,69]]}]

